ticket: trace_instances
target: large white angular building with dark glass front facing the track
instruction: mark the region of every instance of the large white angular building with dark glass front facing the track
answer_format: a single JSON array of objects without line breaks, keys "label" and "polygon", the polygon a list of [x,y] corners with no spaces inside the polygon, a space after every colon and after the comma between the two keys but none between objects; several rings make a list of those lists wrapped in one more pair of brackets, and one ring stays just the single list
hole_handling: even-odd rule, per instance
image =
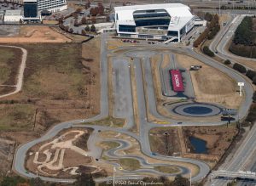
[{"label": "large white angular building with dark glass front facing the track", "polygon": [[180,42],[195,24],[190,8],[181,3],[115,7],[119,37],[149,38]]}]

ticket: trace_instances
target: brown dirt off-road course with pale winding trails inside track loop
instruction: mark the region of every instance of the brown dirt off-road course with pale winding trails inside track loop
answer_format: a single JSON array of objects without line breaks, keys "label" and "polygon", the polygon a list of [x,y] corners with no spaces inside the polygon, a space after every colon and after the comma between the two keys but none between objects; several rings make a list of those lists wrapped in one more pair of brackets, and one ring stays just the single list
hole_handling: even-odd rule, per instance
[{"label": "brown dirt off-road course with pale winding trails inside track loop", "polygon": [[[90,129],[69,129],[61,131],[55,138],[37,144],[27,153],[26,168],[40,175],[58,178],[72,178],[79,173],[92,173],[97,177],[107,176],[87,153],[87,139]],[[78,145],[79,142],[79,145]]]}]

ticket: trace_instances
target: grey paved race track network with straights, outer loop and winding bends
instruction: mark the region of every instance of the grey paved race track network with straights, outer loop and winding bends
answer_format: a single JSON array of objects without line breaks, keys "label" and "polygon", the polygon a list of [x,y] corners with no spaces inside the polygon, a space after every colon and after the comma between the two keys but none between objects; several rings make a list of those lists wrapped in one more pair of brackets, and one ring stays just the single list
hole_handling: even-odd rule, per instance
[{"label": "grey paved race track network with straights, outer loop and winding bends", "polygon": [[[106,43],[107,43],[107,35],[102,35],[102,52],[101,52],[101,114],[98,116],[95,116],[90,119],[85,119],[83,122],[89,122],[89,121],[97,121],[100,119],[103,119],[108,116],[108,51],[106,49]],[[140,50],[140,48],[142,48]],[[16,154],[15,154],[15,161],[14,161],[14,170],[15,172],[19,173],[21,176],[26,178],[36,178],[36,175],[32,172],[27,172],[25,168],[25,161],[26,161],[26,153],[27,151],[32,148],[33,145],[38,144],[40,142],[44,142],[45,140],[48,140],[50,138],[54,138],[55,135],[58,132],[61,132],[61,130],[65,128],[70,127],[90,127],[94,129],[94,132],[90,135],[88,143],[90,149],[90,155],[92,155],[93,158],[100,158],[102,154],[102,149],[99,147],[96,147],[96,143],[102,142],[102,141],[113,141],[119,144],[119,147],[114,149],[109,149],[105,151],[105,155],[107,155],[110,158],[113,159],[120,159],[120,158],[132,158],[136,159],[140,162],[142,168],[138,169],[137,171],[125,171],[125,170],[118,170],[119,172],[122,172],[124,176],[119,177],[118,179],[125,179],[125,178],[142,178],[143,173],[153,173],[154,175],[166,175],[162,172],[157,172],[154,169],[152,169],[152,166],[176,166],[179,170],[178,173],[181,174],[187,174],[190,172],[188,167],[183,166],[177,166],[172,165],[172,161],[176,162],[187,162],[194,164],[195,166],[198,166],[199,172],[192,178],[193,181],[201,180],[201,178],[205,178],[207,176],[207,173],[210,171],[210,167],[207,165],[207,163],[203,161],[196,161],[194,159],[189,158],[181,158],[181,157],[174,157],[174,156],[165,156],[165,155],[158,155],[153,154],[150,149],[149,139],[148,139],[148,132],[150,129],[154,127],[175,127],[180,126],[178,122],[170,118],[166,118],[164,116],[160,116],[160,114],[156,110],[156,100],[154,96],[154,87],[153,87],[153,77],[151,72],[151,66],[149,63],[150,56],[154,54],[161,54],[161,50],[168,49],[172,51],[172,53],[177,54],[188,54],[190,56],[193,56],[195,59],[199,59],[206,63],[207,65],[211,65],[214,68],[217,68],[218,70],[223,71],[224,73],[228,74],[230,77],[232,77],[236,82],[246,82],[245,83],[245,100],[241,104],[241,108],[239,110],[239,116],[240,118],[247,115],[247,110],[249,109],[249,105],[252,102],[252,95],[253,95],[253,89],[247,82],[247,80],[239,75],[235,70],[231,70],[230,68],[221,65],[219,63],[216,63],[214,60],[209,59],[205,56],[202,56],[201,54],[195,53],[193,50],[188,48],[172,48],[170,46],[166,47],[166,45],[158,45],[158,46],[143,46],[138,45],[136,47],[120,47],[117,50],[111,51],[113,57],[112,63],[113,63],[113,71],[112,73],[112,81],[113,81],[113,95],[114,95],[114,104],[113,104],[113,116],[116,117],[122,117],[125,118],[126,123],[125,127],[118,128],[118,127],[103,127],[103,126],[96,126],[96,125],[86,125],[81,123],[80,120],[75,121],[67,121],[62,122],[58,125],[55,125],[54,127],[50,128],[48,132],[44,133],[44,135],[41,138],[37,138],[27,144],[22,144],[18,147]],[[125,51],[125,52],[119,52],[119,51]],[[119,54],[117,54],[119,52]],[[121,54],[120,54],[121,53]],[[128,56],[128,57],[127,57]],[[130,58],[132,59],[132,62]],[[137,87],[136,92],[136,99],[132,97],[131,93],[131,68],[134,70],[134,78],[135,78],[135,86]],[[144,70],[144,73],[143,73]],[[143,82],[144,81],[144,82]],[[143,88],[143,84],[146,83],[147,86]],[[146,103],[147,96],[148,103]],[[138,132],[131,132],[131,127],[134,127],[135,120],[134,120],[134,113],[132,110],[132,106],[134,104],[134,100],[137,100],[137,126],[138,126]],[[159,119],[162,119],[167,122],[165,125],[159,125],[156,123],[148,122],[147,120],[147,110],[146,105],[148,104],[148,112]],[[218,107],[212,110],[218,110]],[[216,111],[218,112],[218,111]],[[237,119],[237,118],[236,118]],[[225,121],[182,121],[183,126],[218,126],[223,125],[226,122]],[[140,145],[141,151],[144,155],[147,155],[150,158],[154,158],[156,160],[162,160],[166,161],[166,164],[149,164],[147,160],[145,160],[143,157],[140,157],[139,155],[120,155],[119,150],[121,149],[127,149],[131,146],[131,143],[126,140],[120,140],[117,138],[100,138],[99,131],[113,131],[113,132],[119,132],[122,134],[125,134],[127,136],[130,136],[130,138],[134,138],[137,140],[137,142]],[[91,153],[93,152],[93,153]],[[104,161],[101,160],[100,161]],[[110,163],[110,162],[109,162]],[[110,163],[113,166],[115,166],[117,169],[119,169],[118,163]],[[140,173],[138,176],[137,173]],[[175,175],[175,174],[170,174]],[[170,176],[167,175],[167,176]],[[62,178],[48,178],[48,177],[42,177],[39,176],[45,181],[50,182],[73,182],[73,179],[62,179]],[[103,180],[109,180],[112,178],[98,178],[96,181],[103,181]]]}]

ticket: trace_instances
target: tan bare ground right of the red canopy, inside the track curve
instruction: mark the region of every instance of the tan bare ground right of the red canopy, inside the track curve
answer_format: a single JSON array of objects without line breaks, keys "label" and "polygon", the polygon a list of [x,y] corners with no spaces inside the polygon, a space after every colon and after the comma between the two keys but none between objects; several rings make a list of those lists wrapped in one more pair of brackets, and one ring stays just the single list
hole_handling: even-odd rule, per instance
[{"label": "tan bare ground right of the red canopy, inside the track curve", "polygon": [[223,104],[234,109],[239,107],[242,98],[230,76],[186,55],[177,54],[177,61],[186,69],[190,65],[202,65],[201,70],[190,71],[196,101]]}]

